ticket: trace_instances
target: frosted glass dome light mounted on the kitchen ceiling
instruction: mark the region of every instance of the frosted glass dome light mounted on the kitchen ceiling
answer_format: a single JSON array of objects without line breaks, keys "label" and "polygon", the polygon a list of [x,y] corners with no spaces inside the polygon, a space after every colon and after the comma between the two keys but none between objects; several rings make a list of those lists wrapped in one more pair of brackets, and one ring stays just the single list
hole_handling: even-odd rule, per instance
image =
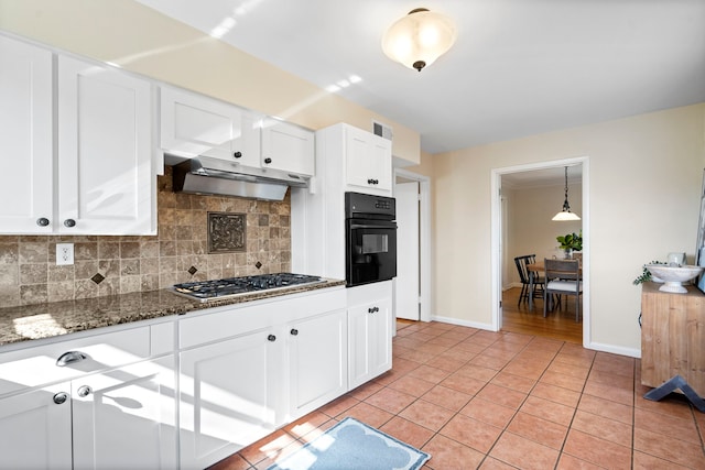
[{"label": "frosted glass dome light mounted on the kitchen ceiling", "polygon": [[421,69],[435,62],[455,43],[453,21],[425,8],[411,10],[382,36],[382,51],[392,61]]}]

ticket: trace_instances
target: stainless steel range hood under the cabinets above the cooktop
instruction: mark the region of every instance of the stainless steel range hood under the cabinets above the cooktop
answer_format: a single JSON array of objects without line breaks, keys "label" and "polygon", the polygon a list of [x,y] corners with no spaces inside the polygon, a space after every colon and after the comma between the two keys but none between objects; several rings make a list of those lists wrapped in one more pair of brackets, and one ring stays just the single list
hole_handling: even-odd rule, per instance
[{"label": "stainless steel range hood under the cabinets above the cooktop", "polygon": [[282,200],[289,186],[308,187],[308,178],[273,168],[197,156],[174,166],[174,192]]}]

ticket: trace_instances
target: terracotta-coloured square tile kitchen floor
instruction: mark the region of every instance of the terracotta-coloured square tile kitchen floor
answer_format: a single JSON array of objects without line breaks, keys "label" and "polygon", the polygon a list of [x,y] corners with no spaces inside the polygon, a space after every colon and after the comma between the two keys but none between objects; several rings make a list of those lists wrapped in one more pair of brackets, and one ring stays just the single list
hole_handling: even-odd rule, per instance
[{"label": "terracotta-coloured square tile kitchen floor", "polygon": [[346,416],[425,469],[705,469],[705,414],[644,400],[639,360],[552,339],[398,324],[393,369],[214,468],[265,469]]}]

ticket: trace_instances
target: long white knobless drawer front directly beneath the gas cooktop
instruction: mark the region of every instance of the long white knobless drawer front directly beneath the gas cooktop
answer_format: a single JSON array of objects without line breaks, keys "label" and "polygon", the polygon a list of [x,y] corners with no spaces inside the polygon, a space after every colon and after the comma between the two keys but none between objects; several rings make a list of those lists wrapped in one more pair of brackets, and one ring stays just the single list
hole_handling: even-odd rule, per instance
[{"label": "long white knobless drawer front directly beneath the gas cooktop", "polygon": [[332,287],[315,293],[294,294],[275,300],[214,308],[178,326],[180,349],[232,338],[282,323],[345,308],[345,288]]}]

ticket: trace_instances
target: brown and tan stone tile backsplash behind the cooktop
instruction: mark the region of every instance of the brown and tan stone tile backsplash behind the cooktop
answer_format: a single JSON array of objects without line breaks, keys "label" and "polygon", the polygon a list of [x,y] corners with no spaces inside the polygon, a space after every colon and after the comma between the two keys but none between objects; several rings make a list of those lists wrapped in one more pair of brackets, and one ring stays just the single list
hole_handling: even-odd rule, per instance
[{"label": "brown and tan stone tile backsplash behind the cooktop", "polygon": [[[282,201],[175,194],[170,167],[158,186],[153,237],[0,236],[0,306],[291,270],[289,194]],[[245,251],[208,253],[208,212],[247,216]],[[56,243],[74,243],[73,265],[56,265]]]}]

